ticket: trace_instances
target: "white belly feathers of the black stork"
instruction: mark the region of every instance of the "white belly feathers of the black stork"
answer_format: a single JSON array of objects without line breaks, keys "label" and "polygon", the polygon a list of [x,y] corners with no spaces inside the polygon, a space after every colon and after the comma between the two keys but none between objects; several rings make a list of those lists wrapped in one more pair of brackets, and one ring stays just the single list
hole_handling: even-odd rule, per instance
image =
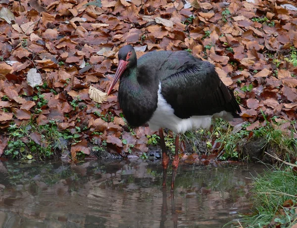
[{"label": "white belly feathers of the black stork", "polygon": [[232,115],[225,111],[213,115],[194,115],[187,119],[179,118],[174,114],[174,110],[166,102],[160,92],[161,83],[159,84],[158,90],[157,109],[148,121],[148,125],[152,130],[158,130],[160,127],[165,127],[175,133],[185,133],[188,130],[196,130],[198,128],[208,129],[211,125],[212,117],[222,117],[227,121],[233,119]]}]

